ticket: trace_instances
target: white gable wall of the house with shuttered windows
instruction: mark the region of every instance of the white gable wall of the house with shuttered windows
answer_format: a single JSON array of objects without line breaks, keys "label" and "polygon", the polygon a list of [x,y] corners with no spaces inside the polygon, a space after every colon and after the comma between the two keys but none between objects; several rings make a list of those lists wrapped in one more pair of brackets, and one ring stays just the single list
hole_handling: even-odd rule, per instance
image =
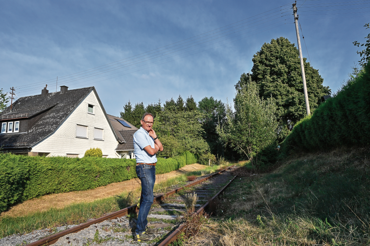
[{"label": "white gable wall of the house with shuttered windows", "polygon": [[[94,105],[94,114],[88,113],[88,104]],[[87,139],[76,138],[77,125],[87,126]],[[94,128],[103,129],[103,141],[94,140]],[[119,158],[115,153],[118,142],[92,90],[57,128],[54,134],[33,146],[32,152],[50,153],[48,156],[78,154],[83,157],[90,148],[101,148],[108,158]]]}]

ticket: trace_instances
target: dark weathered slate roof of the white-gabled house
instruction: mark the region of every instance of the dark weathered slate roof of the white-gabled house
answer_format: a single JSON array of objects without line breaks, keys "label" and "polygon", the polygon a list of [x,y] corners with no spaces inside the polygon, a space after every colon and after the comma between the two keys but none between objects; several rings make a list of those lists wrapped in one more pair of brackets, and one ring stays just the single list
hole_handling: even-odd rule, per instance
[{"label": "dark weathered slate roof of the white-gabled house", "polygon": [[[94,87],[85,87],[74,90],[67,90],[48,93],[46,95],[35,95],[21,97],[13,103],[12,111],[10,106],[0,113],[0,119],[11,118],[10,115],[28,114],[27,118],[41,112],[46,112],[28,132],[1,134],[0,146],[25,146],[30,147],[53,133],[64,121],[71,111],[87,96]],[[96,92],[96,91],[95,91]]]}]

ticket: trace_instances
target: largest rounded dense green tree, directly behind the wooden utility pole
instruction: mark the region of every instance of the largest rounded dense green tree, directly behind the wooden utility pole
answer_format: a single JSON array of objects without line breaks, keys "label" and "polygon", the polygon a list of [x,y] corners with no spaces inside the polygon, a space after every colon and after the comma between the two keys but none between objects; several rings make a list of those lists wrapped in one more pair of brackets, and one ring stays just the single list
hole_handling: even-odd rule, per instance
[{"label": "largest rounded dense green tree, directly behind the wooden utility pole", "polygon": [[[298,49],[287,38],[272,39],[270,43],[262,45],[260,51],[253,55],[252,61],[252,74],[242,75],[240,81],[251,76],[259,87],[260,97],[272,96],[280,133],[286,136],[296,122],[306,115]],[[323,86],[319,70],[306,62],[306,58],[303,61],[310,110],[313,112],[320,105],[321,97],[330,95],[331,90],[329,86]]]}]

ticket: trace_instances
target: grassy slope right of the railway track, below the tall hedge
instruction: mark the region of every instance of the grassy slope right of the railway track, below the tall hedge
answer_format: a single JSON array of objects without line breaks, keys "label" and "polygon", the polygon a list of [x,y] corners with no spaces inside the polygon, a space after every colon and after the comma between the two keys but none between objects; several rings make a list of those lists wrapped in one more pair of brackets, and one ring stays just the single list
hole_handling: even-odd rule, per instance
[{"label": "grassy slope right of the railway track, below the tall hedge", "polygon": [[370,245],[368,153],[302,154],[270,173],[239,176],[213,204],[216,216],[185,244]]}]

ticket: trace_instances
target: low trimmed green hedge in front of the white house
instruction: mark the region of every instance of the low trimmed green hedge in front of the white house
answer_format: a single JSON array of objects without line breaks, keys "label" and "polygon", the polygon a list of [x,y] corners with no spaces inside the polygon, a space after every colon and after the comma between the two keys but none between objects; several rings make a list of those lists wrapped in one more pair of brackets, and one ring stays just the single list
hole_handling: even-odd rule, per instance
[{"label": "low trimmed green hedge in front of the white house", "polygon": [[[195,158],[187,159],[187,155],[194,157],[189,152],[175,158],[158,158],[156,174],[196,162]],[[88,190],[136,178],[135,166],[135,159],[31,157],[0,153],[0,212],[16,202],[40,195]]]}]

